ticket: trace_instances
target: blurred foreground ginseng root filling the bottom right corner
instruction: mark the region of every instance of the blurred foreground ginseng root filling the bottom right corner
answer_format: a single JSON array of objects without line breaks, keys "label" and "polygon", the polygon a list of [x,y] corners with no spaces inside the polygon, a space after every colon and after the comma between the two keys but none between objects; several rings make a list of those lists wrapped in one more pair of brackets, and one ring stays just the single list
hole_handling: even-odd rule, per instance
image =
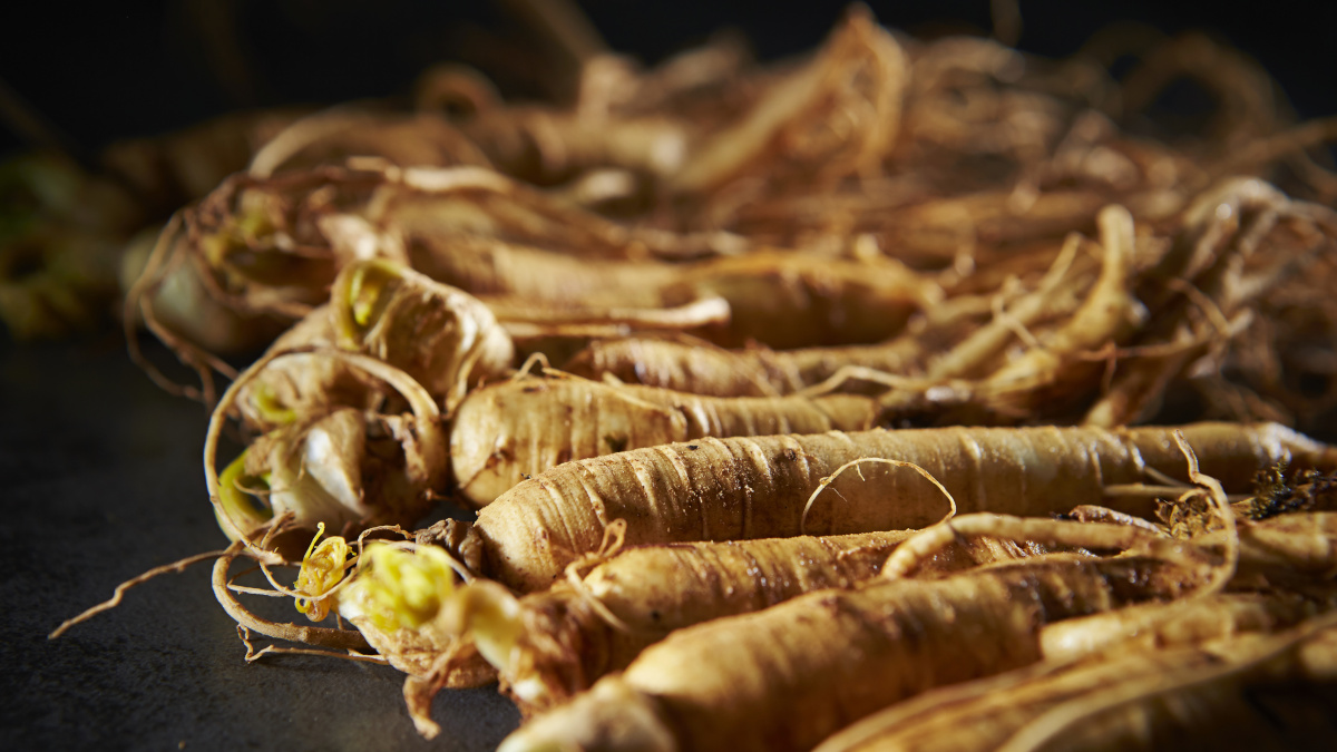
[{"label": "blurred foreground ginseng root filling the bottom right corner", "polygon": [[[1171,739],[1211,748],[1310,748],[1332,735],[1330,723],[1316,727],[1306,719],[1330,719],[1337,708],[1337,642],[1332,629],[1306,645],[1294,634],[1139,650],[1079,665],[1051,660],[894,705],[832,736],[817,752],[973,752],[999,749],[1009,737],[1008,749],[1017,752],[1159,749]],[[1278,645],[1286,646],[1280,654]],[[1138,685],[1146,689],[1138,692]],[[1104,713],[1122,717],[1071,721],[1082,705],[1094,711],[1102,696],[1128,688],[1128,705]],[[1157,697],[1155,688],[1169,690]],[[1060,712],[1070,723],[1051,724],[1048,739],[1015,736],[1047,715],[1059,720]]]}]

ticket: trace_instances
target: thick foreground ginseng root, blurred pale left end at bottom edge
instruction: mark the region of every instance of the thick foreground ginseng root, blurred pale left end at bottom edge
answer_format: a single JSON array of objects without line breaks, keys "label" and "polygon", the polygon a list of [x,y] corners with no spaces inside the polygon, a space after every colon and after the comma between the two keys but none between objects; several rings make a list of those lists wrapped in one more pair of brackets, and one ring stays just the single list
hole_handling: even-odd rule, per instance
[{"label": "thick foreground ginseng root, blurred pale left end at bottom edge", "polygon": [[1146,557],[1042,558],[813,593],[677,632],[500,749],[808,749],[933,686],[1038,662],[1040,625],[1174,598],[1203,575]]}]

